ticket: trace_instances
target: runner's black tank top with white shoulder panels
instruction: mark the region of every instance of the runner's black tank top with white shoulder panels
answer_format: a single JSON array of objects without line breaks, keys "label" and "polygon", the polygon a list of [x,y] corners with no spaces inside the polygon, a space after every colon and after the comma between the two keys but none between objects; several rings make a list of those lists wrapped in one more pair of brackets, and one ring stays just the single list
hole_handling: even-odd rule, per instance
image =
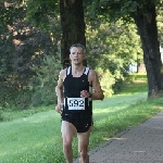
[{"label": "runner's black tank top with white shoulder panels", "polygon": [[90,118],[92,115],[91,98],[80,98],[80,91],[91,93],[92,86],[88,82],[89,67],[80,77],[73,77],[72,67],[66,68],[66,77],[63,82],[64,105],[62,118]]}]

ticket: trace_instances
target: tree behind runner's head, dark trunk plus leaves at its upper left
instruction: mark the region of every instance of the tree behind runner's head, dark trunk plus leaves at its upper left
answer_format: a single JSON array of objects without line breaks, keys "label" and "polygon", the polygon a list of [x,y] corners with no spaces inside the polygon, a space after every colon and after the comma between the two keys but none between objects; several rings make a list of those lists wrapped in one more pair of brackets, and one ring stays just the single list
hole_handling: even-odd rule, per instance
[{"label": "tree behind runner's head, dark trunk plus leaves at its upper left", "polygon": [[45,29],[51,26],[51,20],[60,17],[63,67],[70,65],[70,47],[73,43],[86,46],[83,0],[27,0],[27,15],[35,26]]}]

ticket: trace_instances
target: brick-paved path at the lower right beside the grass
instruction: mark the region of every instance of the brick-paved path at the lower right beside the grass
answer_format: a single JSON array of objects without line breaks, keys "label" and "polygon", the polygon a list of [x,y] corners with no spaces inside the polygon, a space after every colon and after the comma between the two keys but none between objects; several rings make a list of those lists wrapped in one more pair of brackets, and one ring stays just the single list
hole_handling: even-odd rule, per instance
[{"label": "brick-paved path at the lower right beside the grass", "polygon": [[163,111],[100,145],[89,159],[90,163],[163,163]]}]

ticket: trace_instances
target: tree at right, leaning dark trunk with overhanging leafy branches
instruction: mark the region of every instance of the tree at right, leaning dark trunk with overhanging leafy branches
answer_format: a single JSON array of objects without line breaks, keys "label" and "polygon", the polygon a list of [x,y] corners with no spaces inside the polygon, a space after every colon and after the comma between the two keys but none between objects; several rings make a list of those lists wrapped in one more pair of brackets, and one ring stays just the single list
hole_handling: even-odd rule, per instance
[{"label": "tree at right, leaning dark trunk with overhanging leafy branches", "polygon": [[163,89],[155,11],[155,7],[161,2],[159,0],[96,0],[92,3],[93,11],[98,11],[98,14],[104,15],[109,21],[118,18],[126,22],[135,21],[142,43],[148,98],[156,97]]}]

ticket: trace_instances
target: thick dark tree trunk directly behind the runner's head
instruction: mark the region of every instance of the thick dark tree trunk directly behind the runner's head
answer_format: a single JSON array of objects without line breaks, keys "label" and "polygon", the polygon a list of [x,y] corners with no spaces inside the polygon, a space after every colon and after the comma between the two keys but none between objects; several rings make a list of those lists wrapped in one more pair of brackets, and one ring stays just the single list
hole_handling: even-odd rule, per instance
[{"label": "thick dark tree trunk directly behind the runner's head", "polygon": [[62,27],[61,62],[70,65],[70,47],[74,43],[86,46],[83,0],[60,0]]}]

